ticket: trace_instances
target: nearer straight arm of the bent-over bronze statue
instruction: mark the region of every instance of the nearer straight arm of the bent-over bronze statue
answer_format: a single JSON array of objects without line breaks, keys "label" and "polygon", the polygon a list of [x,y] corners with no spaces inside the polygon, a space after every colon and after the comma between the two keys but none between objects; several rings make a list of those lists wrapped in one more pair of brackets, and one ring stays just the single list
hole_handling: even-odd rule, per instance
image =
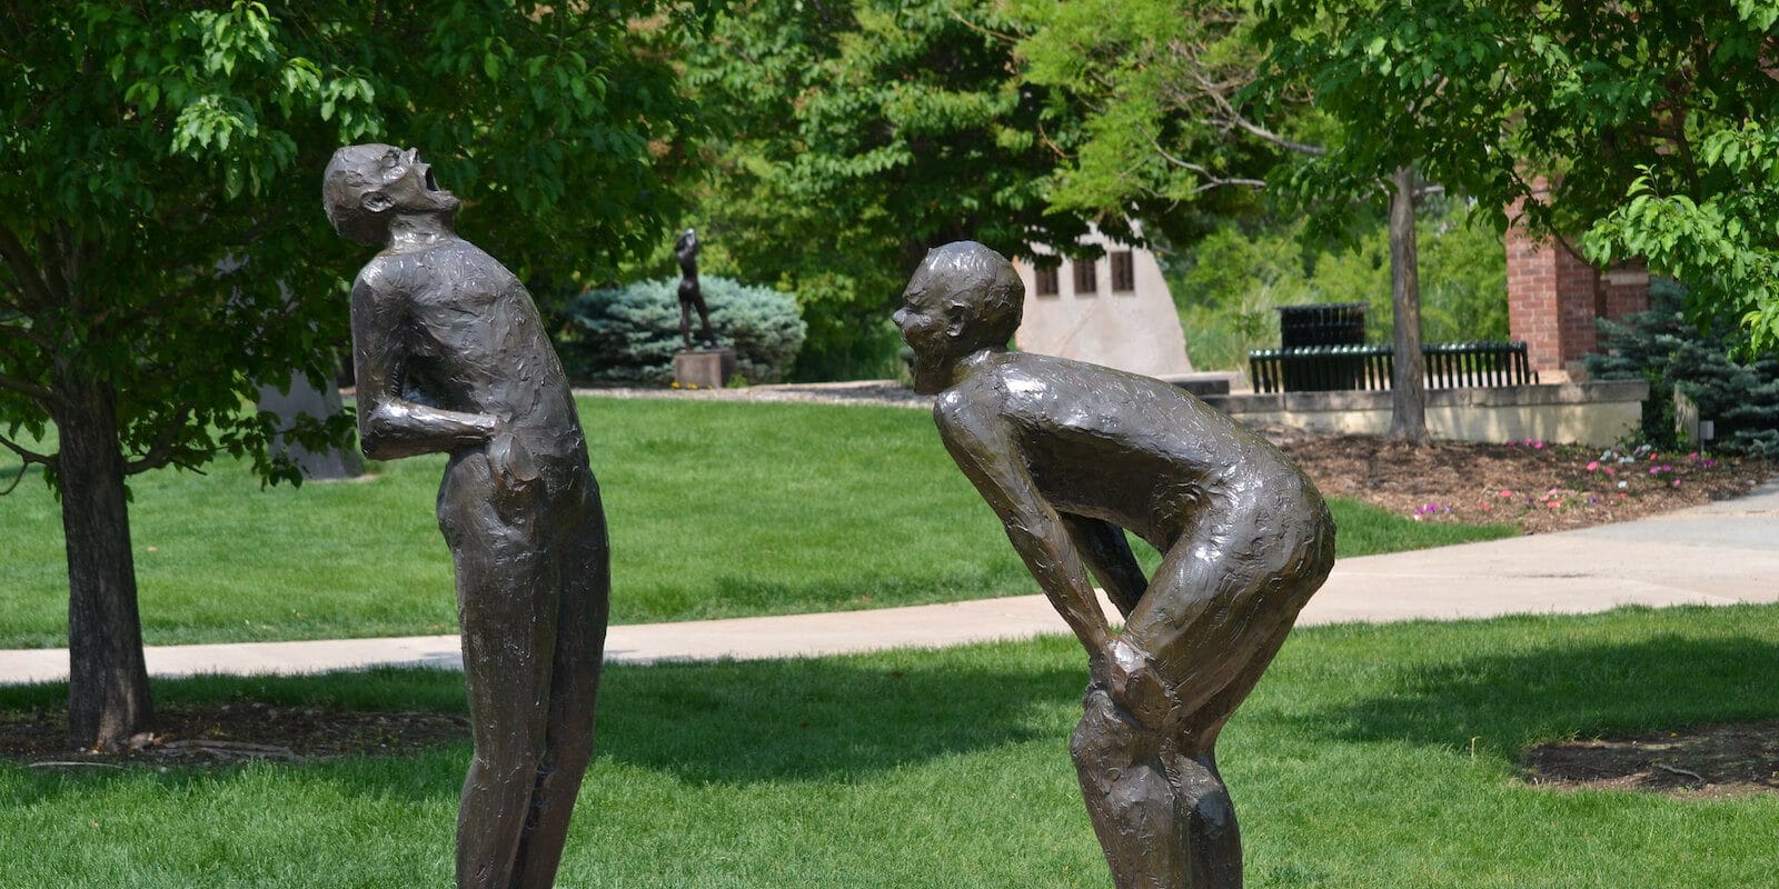
[{"label": "nearer straight arm of the bent-over bronze statue", "polygon": [[1103,663],[1110,651],[1112,628],[1099,597],[1087,580],[1087,567],[1069,535],[1067,525],[1044,501],[1032,482],[1016,441],[993,411],[941,404],[934,412],[939,437],[982,500],[989,503],[1007,539],[1050,603],[1087,647],[1089,661]]}]

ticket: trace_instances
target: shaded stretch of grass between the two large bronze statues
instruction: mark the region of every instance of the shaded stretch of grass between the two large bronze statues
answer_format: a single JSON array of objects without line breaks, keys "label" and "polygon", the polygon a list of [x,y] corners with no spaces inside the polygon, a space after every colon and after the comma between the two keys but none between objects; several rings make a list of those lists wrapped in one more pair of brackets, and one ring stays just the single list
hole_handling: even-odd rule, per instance
[{"label": "shaded stretch of grass between the two large bronze statues", "polygon": [[[966,649],[968,651],[968,649]],[[619,667],[600,750],[690,782],[824,781],[1055,740],[1087,670],[943,654]]]}]

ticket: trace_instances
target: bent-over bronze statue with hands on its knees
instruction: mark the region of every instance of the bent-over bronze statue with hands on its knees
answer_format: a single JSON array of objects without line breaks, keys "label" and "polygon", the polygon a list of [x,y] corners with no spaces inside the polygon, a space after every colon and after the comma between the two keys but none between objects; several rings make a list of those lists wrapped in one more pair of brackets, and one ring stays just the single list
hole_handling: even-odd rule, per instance
[{"label": "bent-over bronze statue with hands on its knees", "polygon": [[[1025,286],[973,242],[895,313],[946,450],[1087,647],[1069,752],[1119,889],[1235,889],[1217,733],[1334,564],[1334,521],[1272,444],[1165,382],[1009,352]],[[1144,578],[1124,532],[1162,553]],[[1092,569],[1124,615],[1112,633]]]}]

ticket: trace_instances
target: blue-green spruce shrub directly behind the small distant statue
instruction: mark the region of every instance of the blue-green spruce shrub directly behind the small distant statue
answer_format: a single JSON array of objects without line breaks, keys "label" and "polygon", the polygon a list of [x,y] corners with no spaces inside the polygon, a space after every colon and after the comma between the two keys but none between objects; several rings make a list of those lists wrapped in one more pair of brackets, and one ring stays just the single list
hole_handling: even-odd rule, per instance
[{"label": "blue-green spruce shrub directly behind the small distant statue", "polygon": [[[797,300],[772,288],[745,286],[728,277],[699,279],[710,327],[735,348],[737,372],[749,382],[785,379],[806,325]],[[637,281],[621,288],[589,290],[564,308],[566,329],[557,343],[576,379],[667,384],[680,338],[680,279]],[[692,315],[692,336],[699,332]]]}]

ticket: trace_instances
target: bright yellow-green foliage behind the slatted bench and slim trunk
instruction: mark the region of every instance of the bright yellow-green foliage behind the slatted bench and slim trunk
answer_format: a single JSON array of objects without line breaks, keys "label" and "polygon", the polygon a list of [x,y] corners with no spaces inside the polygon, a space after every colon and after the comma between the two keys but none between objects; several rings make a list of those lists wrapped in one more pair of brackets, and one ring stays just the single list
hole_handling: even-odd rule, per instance
[{"label": "bright yellow-green foliage behind the slatted bench and slim trunk", "polygon": [[[1429,201],[1416,220],[1427,341],[1507,340],[1507,263],[1480,215]],[[1366,340],[1391,341],[1389,233],[1375,217],[1347,244],[1315,238],[1304,220],[1224,224],[1169,258],[1169,286],[1201,368],[1245,368],[1249,348],[1276,348],[1281,306],[1364,302]]]}]

